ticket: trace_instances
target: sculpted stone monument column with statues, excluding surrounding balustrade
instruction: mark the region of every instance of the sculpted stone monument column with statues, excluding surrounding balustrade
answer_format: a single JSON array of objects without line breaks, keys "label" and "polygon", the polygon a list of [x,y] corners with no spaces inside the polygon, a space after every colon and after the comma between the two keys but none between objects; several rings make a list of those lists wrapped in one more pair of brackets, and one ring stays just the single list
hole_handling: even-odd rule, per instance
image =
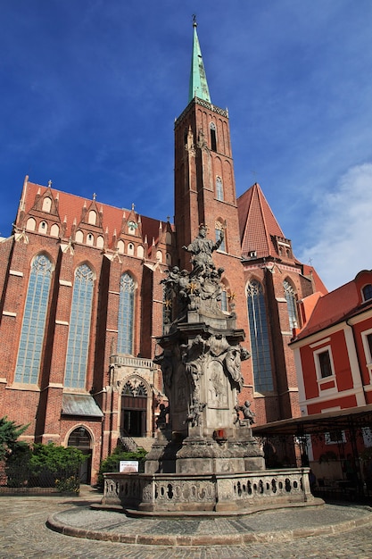
[{"label": "sculpted stone monument column with statues, excluding surrounding balustrade", "polygon": [[[173,267],[167,273],[164,296],[168,309],[166,332],[158,338],[169,421],[147,456],[147,473],[227,473],[263,470],[264,460],[252,438],[253,414],[238,405],[243,387],[241,362],[250,357],[236,330],[236,314],[220,309],[221,268],[212,253],[207,228],[183,248],[191,254],[193,270]],[[247,408],[248,409],[248,408]],[[243,412],[243,417],[240,413]]]}]

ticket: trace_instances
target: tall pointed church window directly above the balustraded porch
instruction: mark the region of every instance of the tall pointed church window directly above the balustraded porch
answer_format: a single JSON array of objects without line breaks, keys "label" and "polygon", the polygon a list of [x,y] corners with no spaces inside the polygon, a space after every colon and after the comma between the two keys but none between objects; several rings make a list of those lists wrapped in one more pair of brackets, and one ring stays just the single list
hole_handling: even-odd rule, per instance
[{"label": "tall pointed church window directly above the balustraded porch", "polygon": [[118,352],[120,354],[133,355],[135,290],[135,281],[128,273],[124,273],[120,278],[118,320]]}]

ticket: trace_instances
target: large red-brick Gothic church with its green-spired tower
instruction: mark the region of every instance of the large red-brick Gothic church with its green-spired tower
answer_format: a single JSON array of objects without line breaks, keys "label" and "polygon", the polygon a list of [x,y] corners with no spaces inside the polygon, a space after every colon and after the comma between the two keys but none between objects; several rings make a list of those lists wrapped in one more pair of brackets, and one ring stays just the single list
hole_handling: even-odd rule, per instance
[{"label": "large red-brick Gothic church with its green-spired tower", "polygon": [[184,247],[202,225],[218,245],[221,311],[236,313],[251,354],[242,402],[259,424],[300,414],[288,343],[302,299],[327,289],[295,258],[260,186],[236,198],[228,113],[211,102],[195,22],[174,133],[174,223],[26,177],[12,235],[0,239],[0,417],[27,424],[29,442],[79,447],[84,482],[119,440],[153,442],[168,404],[156,364],[173,313],[162,280],[191,270]]}]

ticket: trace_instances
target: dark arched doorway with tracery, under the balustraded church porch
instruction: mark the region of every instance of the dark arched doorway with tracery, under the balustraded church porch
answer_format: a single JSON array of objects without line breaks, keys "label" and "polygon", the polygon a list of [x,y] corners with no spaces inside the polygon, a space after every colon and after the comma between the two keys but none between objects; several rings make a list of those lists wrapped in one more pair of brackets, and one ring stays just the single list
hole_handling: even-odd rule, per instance
[{"label": "dark arched doorway with tracery, under the balustraded church porch", "polygon": [[134,387],[129,381],[121,393],[121,434],[145,437],[147,415],[147,390],[141,382]]}]

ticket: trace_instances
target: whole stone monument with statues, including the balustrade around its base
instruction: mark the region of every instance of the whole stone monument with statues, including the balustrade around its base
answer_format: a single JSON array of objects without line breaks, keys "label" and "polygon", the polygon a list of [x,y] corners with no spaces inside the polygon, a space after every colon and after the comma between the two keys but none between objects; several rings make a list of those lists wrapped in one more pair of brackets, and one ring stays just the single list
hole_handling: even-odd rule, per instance
[{"label": "whole stone monument with statues, including the balustrade around its base", "polygon": [[224,313],[219,305],[223,269],[216,269],[212,254],[222,241],[223,231],[213,242],[202,225],[183,247],[192,271],[174,266],[162,280],[166,323],[155,362],[169,406],[161,407],[145,473],[104,474],[105,508],[185,516],[316,504],[309,469],[265,471],[252,437],[251,404],[239,405],[241,363],[250,354],[235,311]]}]

